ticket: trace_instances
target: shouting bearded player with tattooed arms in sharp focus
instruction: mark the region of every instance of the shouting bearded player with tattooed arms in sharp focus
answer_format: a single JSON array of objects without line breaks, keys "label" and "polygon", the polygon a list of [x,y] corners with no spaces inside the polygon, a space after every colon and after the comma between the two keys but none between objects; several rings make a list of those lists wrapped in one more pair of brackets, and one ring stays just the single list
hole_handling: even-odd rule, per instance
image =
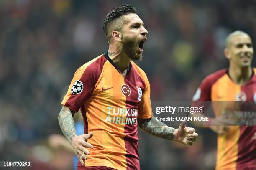
[{"label": "shouting bearded player with tattooed arms in sharp focus", "polygon": [[[78,169],[139,170],[138,126],[157,137],[192,145],[198,135],[186,122],[174,129],[153,117],[149,81],[133,62],[142,59],[148,33],[136,9],[113,8],[103,30],[108,51],[75,72],[59,113],[61,130],[79,158]],[[73,116],[79,110],[84,134],[78,136]]]}]

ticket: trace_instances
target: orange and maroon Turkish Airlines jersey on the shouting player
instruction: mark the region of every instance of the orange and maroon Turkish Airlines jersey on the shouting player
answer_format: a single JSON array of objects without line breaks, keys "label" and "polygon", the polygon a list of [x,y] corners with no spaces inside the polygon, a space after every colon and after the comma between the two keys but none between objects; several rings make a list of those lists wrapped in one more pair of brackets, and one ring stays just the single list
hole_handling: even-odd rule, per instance
[{"label": "orange and maroon Turkish Airlines jersey on the shouting player", "polygon": [[[93,132],[85,166],[140,169],[137,118],[150,118],[150,85],[133,61],[122,76],[105,53],[81,66],[62,105],[84,118],[84,133]],[[82,166],[79,163],[79,166]]]}]

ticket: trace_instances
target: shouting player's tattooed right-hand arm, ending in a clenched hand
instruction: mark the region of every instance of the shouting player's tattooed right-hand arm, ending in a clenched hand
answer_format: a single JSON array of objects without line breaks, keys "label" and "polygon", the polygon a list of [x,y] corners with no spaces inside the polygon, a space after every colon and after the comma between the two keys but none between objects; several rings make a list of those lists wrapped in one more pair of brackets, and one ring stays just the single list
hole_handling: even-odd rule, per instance
[{"label": "shouting player's tattooed right-hand arm, ending in a clenched hand", "polygon": [[166,126],[156,120],[155,117],[149,119],[137,119],[139,127],[149,134],[168,140],[175,140],[185,145],[192,145],[198,136],[194,128],[186,127],[186,122],[180,124],[179,129]]}]

